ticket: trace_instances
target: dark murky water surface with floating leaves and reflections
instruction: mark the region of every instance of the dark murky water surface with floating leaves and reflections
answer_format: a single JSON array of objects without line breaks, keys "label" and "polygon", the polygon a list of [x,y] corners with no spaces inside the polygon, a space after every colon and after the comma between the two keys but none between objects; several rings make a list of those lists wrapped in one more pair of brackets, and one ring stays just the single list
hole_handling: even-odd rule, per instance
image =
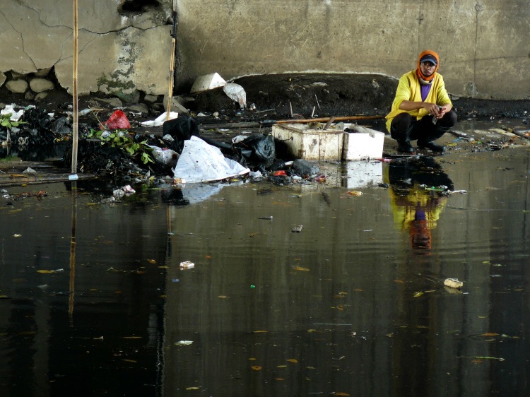
[{"label": "dark murky water surface with floating leaves and reflections", "polygon": [[114,205],[10,188],[0,395],[527,396],[529,162],[330,164],[326,184]]}]

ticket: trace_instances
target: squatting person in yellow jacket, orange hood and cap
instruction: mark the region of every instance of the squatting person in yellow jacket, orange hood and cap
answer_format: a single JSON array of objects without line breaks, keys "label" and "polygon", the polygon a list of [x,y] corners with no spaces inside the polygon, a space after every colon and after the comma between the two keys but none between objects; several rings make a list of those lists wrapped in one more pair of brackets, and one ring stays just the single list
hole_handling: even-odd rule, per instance
[{"label": "squatting person in yellow jacket, orange hood and cap", "polygon": [[438,54],[427,50],[418,57],[416,69],[399,78],[396,97],[387,114],[387,129],[401,153],[416,154],[411,145],[415,140],[418,148],[442,153],[444,146],[433,141],[457,123],[444,78],[437,73],[439,67]]}]

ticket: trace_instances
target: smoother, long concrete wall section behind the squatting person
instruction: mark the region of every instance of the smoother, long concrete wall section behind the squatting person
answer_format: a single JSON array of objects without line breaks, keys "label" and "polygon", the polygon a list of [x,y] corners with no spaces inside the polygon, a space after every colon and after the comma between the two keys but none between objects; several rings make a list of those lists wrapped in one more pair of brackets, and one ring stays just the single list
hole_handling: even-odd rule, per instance
[{"label": "smoother, long concrete wall section behind the squatting person", "polygon": [[177,0],[179,83],[284,71],[383,73],[441,57],[454,95],[530,97],[528,0]]}]

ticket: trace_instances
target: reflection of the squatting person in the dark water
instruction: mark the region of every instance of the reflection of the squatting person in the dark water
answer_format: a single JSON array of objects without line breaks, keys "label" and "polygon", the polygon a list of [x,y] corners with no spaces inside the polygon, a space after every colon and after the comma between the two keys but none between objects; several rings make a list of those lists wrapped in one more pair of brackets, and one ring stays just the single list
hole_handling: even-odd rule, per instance
[{"label": "reflection of the squatting person in the dark water", "polygon": [[430,249],[446,198],[442,191],[454,185],[433,158],[408,158],[389,163],[385,179],[390,185],[394,224],[408,230],[413,249]]}]

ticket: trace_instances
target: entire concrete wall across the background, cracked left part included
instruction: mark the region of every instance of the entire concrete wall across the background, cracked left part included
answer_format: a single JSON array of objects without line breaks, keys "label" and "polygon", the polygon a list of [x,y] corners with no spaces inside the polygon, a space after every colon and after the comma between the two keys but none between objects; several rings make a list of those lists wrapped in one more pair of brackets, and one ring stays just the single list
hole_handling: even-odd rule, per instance
[{"label": "entire concrete wall across the background, cracked left part included", "polygon": [[[172,0],[78,0],[79,90],[167,92]],[[0,83],[54,68],[71,88],[72,1],[4,0]],[[123,11],[124,4],[139,11]],[[177,91],[285,71],[399,77],[433,49],[450,93],[528,99],[528,0],[176,0]],[[15,76],[17,76],[15,74]]]}]

